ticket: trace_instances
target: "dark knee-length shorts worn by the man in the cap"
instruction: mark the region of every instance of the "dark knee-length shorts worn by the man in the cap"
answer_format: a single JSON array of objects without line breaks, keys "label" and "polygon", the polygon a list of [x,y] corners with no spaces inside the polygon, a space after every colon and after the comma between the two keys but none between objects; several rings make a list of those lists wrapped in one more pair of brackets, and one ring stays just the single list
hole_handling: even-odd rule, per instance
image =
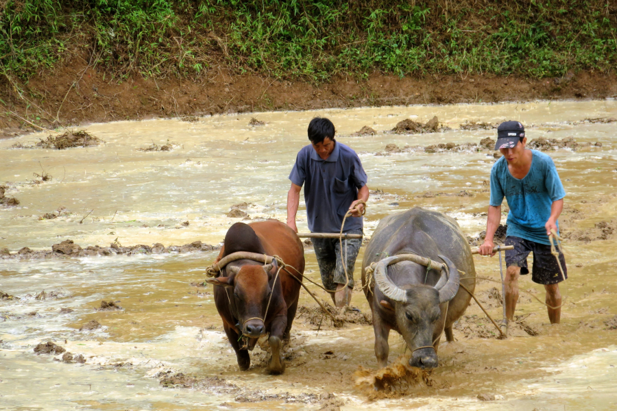
[{"label": "dark knee-length shorts worn by the man in the cap", "polygon": [[[521,274],[529,274],[527,268],[527,256],[533,252],[533,273],[531,280],[537,284],[557,284],[568,278],[566,259],[561,251],[559,252],[559,262],[564,269],[564,275],[559,271],[557,258],[551,254],[551,246],[540,244],[520,237],[509,236],[505,240],[505,245],[513,245],[513,250],[506,250],[506,266],[520,267]],[[565,278],[564,278],[565,277]]]}]

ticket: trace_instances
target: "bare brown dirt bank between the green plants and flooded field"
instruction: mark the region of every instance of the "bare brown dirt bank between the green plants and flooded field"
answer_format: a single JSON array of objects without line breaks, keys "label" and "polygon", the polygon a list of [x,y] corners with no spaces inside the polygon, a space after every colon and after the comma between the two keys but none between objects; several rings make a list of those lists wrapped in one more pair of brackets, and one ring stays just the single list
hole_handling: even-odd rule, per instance
[{"label": "bare brown dirt bank between the green plants and flooded field", "polygon": [[0,138],[40,127],[165,117],[191,121],[193,116],[234,112],[616,96],[617,74],[598,71],[544,79],[373,73],[365,80],[335,77],[312,84],[236,75],[215,66],[197,82],[138,75],[110,82],[103,71],[78,60],[42,73],[28,84],[10,84],[0,78],[0,99],[5,103],[0,110]]}]

